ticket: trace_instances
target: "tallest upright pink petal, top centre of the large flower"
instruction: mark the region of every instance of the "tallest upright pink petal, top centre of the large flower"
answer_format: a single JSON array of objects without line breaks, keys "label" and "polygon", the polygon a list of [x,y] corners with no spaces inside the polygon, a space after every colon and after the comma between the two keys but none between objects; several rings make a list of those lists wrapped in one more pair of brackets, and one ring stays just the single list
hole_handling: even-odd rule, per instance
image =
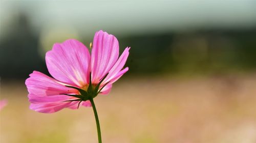
[{"label": "tallest upright pink petal, top centre of the large flower", "polygon": [[115,36],[103,31],[95,33],[93,39],[91,72],[92,82],[99,80],[110,71],[118,59],[119,44]]}]

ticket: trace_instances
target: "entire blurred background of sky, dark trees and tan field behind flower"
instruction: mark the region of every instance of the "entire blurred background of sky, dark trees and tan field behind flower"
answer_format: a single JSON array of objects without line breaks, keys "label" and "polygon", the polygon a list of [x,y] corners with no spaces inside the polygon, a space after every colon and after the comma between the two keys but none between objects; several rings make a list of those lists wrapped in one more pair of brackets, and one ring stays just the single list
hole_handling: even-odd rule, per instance
[{"label": "entire blurred background of sky, dark trees and tan field behind flower", "polygon": [[97,142],[92,108],[29,109],[45,53],[94,33],[131,46],[95,99],[103,142],[256,142],[256,1],[0,1],[0,142]]}]

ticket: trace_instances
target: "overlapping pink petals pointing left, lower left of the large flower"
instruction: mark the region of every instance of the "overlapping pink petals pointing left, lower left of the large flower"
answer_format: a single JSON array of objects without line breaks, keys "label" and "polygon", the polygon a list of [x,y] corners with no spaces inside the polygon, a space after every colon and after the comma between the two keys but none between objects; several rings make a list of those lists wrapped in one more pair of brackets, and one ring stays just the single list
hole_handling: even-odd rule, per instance
[{"label": "overlapping pink petals pointing left, lower left of the large flower", "polygon": [[60,94],[76,93],[76,90],[65,87],[66,83],[57,81],[45,74],[34,71],[26,80],[29,92],[30,108],[44,113],[53,113],[70,107],[77,102],[62,102],[72,97]]}]

